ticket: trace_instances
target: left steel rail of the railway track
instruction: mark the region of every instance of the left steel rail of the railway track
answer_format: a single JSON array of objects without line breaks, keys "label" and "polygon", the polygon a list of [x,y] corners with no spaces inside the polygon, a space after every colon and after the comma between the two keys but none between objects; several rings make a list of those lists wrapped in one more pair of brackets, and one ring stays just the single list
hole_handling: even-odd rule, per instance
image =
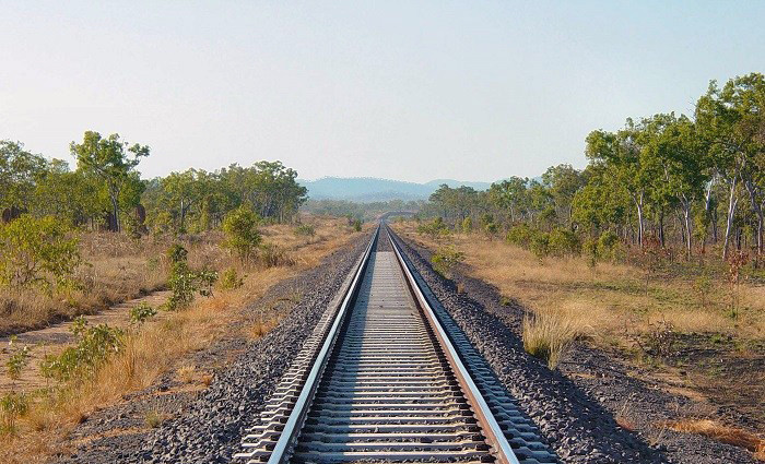
[{"label": "left steel rail of the railway track", "polygon": [[372,236],[372,239],[369,240],[369,245],[367,245],[366,247],[366,250],[358,266],[356,267],[353,282],[346,290],[345,297],[343,298],[343,302],[340,306],[338,314],[336,316],[334,321],[332,322],[332,326],[329,330],[327,337],[325,338],[323,344],[321,345],[321,349],[319,350],[319,354],[317,355],[314,361],[314,365],[310,369],[310,373],[308,374],[308,378],[306,379],[306,382],[303,385],[303,389],[301,390],[301,394],[297,397],[297,401],[295,402],[292,412],[290,413],[290,417],[286,424],[284,425],[284,429],[282,430],[282,433],[279,437],[275,447],[273,448],[273,452],[271,453],[271,456],[268,460],[268,464],[281,464],[285,462],[285,459],[289,459],[290,448],[294,444],[294,441],[297,438],[301,428],[303,427],[303,423],[305,421],[306,415],[308,414],[314,393],[316,392],[316,389],[318,388],[319,382],[321,380],[321,373],[323,372],[323,369],[327,366],[327,360],[329,359],[332,345],[334,345],[334,342],[338,337],[340,326],[345,318],[345,314],[348,313],[348,308],[350,307],[353,297],[358,290],[362,276],[364,275],[366,265],[369,262],[369,255],[372,254],[372,249],[374,248],[375,241],[379,236],[379,231],[380,226],[378,225],[377,229]]}]

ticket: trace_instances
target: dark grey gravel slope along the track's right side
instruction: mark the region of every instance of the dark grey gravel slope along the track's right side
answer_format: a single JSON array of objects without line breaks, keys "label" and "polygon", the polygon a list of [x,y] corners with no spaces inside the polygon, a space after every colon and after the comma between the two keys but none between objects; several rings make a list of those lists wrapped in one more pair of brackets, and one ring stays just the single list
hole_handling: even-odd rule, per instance
[{"label": "dark grey gravel slope along the track's right side", "polygon": [[[670,395],[626,374],[607,354],[584,345],[564,359],[563,371],[551,371],[523,352],[523,309],[499,304],[497,289],[457,270],[446,281],[431,267],[429,251],[403,242],[403,249],[443,307],[482,353],[521,409],[540,428],[565,463],[755,463],[745,450],[652,427],[673,418],[672,412],[694,407],[684,396]],[[462,293],[457,293],[456,283]],[[629,418],[638,433],[621,428],[614,414]],[[654,445],[649,445],[648,443]]]}]

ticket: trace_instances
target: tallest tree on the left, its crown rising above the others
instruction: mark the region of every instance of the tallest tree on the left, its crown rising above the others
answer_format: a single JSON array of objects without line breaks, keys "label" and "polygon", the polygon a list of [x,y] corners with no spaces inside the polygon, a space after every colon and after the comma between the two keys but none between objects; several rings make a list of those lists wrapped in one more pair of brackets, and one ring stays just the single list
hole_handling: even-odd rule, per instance
[{"label": "tallest tree on the left, its crown rising above the others", "polygon": [[129,145],[116,133],[102,138],[98,132],[87,131],[82,143],[70,144],[70,151],[78,160],[78,170],[96,176],[104,183],[111,204],[115,231],[120,231],[120,194],[130,186],[134,190],[134,169],[142,157],[149,156],[149,146]]}]

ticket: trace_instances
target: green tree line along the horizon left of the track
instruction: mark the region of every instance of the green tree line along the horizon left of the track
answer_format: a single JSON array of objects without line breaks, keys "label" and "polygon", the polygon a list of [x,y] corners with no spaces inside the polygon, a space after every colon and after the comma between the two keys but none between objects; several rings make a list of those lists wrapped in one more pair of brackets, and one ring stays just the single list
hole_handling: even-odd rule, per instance
[{"label": "green tree line along the horizon left of the track", "polygon": [[142,180],[137,167],[150,155],[149,146],[89,131],[82,142],[70,144],[70,152],[74,169],[20,142],[0,141],[2,222],[28,214],[78,228],[201,231],[220,227],[228,212],[243,205],[263,221],[287,222],[307,199],[297,172],[281,162]]}]

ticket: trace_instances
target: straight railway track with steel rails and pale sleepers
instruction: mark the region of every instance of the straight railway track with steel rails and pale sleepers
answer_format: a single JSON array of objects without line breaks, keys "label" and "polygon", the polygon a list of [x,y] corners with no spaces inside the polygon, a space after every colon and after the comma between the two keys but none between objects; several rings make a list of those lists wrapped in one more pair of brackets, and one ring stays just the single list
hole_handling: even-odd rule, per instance
[{"label": "straight railway track with steel rails and pale sleepers", "polygon": [[249,463],[557,462],[385,225],[243,447]]}]

